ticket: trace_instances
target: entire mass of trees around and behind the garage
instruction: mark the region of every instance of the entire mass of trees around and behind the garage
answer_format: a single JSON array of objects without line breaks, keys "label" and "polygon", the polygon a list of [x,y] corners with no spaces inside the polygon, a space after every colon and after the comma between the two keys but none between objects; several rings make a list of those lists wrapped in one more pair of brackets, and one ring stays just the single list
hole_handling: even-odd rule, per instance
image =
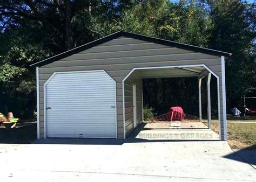
[{"label": "entire mass of trees around and behind the garage", "polygon": [[[226,60],[230,107],[237,106],[240,96],[256,85],[255,4],[239,0],[0,2],[1,111],[4,103],[11,100],[12,105],[19,105],[17,113],[31,116],[33,109],[28,108],[35,108],[36,92],[35,70],[30,64],[119,30],[233,53]],[[149,106],[158,107],[158,113],[170,107],[170,102],[185,104],[187,109],[192,108],[189,112],[195,112],[190,104],[198,102],[192,91],[197,89],[193,87],[197,81],[146,80],[144,84],[149,89],[144,96]],[[172,87],[174,84],[177,87]],[[180,91],[185,87],[189,92]],[[15,108],[7,105],[12,110]]]}]

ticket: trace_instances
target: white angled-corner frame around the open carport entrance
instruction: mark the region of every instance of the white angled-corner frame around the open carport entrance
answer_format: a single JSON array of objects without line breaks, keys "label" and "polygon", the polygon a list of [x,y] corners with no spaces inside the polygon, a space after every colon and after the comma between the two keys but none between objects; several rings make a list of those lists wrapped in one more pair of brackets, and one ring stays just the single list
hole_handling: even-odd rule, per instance
[{"label": "white angled-corner frame around the open carport entrance", "polygon": [[[223,61],[224,58],[221,57],[221,63],[224,62]],[[221,141],[221,128],[220,128],[220,81],[219,81],[219,76],[217,74],[215,74],[210,68],[208,68],[205,64],[199,64],[199,65],[176,65],[176,66],[155,66],[155,67],[137,67],[137,68],[133,68],[129,74],[127,74],[125,76],[125,78],[123,79],[123,125],[124,125],[124,139],[125,139],[125,93],[124,93],[124,82],[125,80],[137,69],[159,69],[159,68],[175,68],[175,67],[196,67],[196,66],[202,66],[205,69],[207,69],[207,71],[209,71],[210,73],[212,73],[212,75],[215,76],[215,78],[217,78],[217,92],[218,92],[218,120],[219,120],[219,139]],[[222,66],[222,74],[225,74],[225,69],[223,69],[224,66]],[[224,72],[224,73],[223,73]],[[223,75],[222,75],[223,76]],[[225,79],[225,77],[223,78]],[[224,82],[224,81],[223,81]],[[223,90],[225,90],[225,82],[223,83]],[[223,95],[224,96],[224,95]],[[225,105],[226,106],[226,105]],[[223,107],[225,107],[223,106]],[[226,123],[224,121],[224,127],[225,127]],[[226,132],[224,129],[224,136],[226,136]]]}]

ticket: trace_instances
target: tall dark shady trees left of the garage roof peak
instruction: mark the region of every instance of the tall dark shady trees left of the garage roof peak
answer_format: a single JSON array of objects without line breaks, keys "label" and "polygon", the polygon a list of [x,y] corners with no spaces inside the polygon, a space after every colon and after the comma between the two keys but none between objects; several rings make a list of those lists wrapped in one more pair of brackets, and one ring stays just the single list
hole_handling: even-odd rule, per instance
[{"label": "tall dark shady trees left of the garage roof peak", "polygon": [[[32,117],[36,104],[35,70],[29,65],[88,43],[102,34],[94,19],[114,20],[133,1],[1,1],[1,111]],[[96,29],[97,30],[97,29]],[[5,106],[5,107],[4,107]]]}]

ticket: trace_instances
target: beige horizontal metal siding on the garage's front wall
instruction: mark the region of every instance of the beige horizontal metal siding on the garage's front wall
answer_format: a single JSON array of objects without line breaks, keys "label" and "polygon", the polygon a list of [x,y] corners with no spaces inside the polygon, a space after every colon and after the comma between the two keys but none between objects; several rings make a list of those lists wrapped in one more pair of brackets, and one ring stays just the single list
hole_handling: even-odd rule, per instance
[{"label": "beige horizontal metal siding on the garage's front wall", "polygon": [[[124,37],[113,39],[107,43],[39,67],[41,137],[44,136],[43,84],[54,72],[104,69],[110,76],[112,76],[117,82],[118,138],[123,138],[122,80],[125,76],[134,67],[196,64],[205,64],[221,78],[220,57]],[[220,95],[222,94],[220,93]]]}]

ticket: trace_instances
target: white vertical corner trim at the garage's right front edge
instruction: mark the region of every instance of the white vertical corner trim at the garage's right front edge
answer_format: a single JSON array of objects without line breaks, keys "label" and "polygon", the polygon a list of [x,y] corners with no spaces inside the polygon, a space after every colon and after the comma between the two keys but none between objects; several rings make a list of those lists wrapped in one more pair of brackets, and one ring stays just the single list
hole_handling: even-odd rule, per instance
[{"label": "white vertical corner trim at the garage's right front edge", "polygon": [[223,131],[224,141],[227,140],[227,113],[226,113],[226,81],[225,81],[225,57],[221,56],[221,86],[223,100]]}]

